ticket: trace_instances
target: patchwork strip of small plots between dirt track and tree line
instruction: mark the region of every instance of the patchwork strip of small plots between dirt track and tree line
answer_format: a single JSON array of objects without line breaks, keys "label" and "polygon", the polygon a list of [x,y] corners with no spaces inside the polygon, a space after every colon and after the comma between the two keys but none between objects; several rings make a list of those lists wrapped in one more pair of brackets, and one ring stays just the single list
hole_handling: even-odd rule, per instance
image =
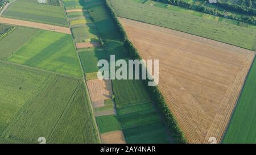
[{"label": "patchwork strip of small plots between dirt track and tree line", "polygon": [[[104,43],[100,47],[78,49],[102,142],[172,142],[166,124],[153,106],[141,81],[112,81],[114,99],[110,99],[110,86],[97,79],[98,60],[109,60],[110,55],[115,55],[117,60],[128,59],[120,34],[103,1],[64,0],[64,6],[66,10],[87,10],[67,11],[76,43],[93,43],[99,41],[98,37]],[[92,85],[94,81],[98,82],[98,86]]]}]

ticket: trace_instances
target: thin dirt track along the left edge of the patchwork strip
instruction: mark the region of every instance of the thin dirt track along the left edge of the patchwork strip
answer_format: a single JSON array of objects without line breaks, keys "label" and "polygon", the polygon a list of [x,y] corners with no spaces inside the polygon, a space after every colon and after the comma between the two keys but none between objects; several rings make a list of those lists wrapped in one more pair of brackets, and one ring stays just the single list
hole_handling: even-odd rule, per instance
[{"label": "thin dirt track along the left edge of the patchwork strip", "polygon": [[[60,0],[60,1],[61,1],[61,5],[64,6],[63,0]],[[82,6],[82,7],[84,7],[84,6]],[[65,17],[67,18],[69,30],[71,31],[71,25],[69,23],[69,20],[68,20],[69,18],[68,18],[68,15],[67,15],[67,10],[66,10],[65,7],[63,7],[63,11],[64,11],[64,14],[65,14]],[[92,99],[90,98],[89,89],[88,89],[88,86],[87,86],[87,83],[86,83],[86,80],[85,80],[85,72],[84,72],[84,69],[82,68],[82,62],[81,62],[81,59],[80,59],[80,56],[79,56],[79,52],[77,51],[77,48],[76,48],[75,39],[74,39],[72,31],[71,31],[71,35],[72,35],[72,39],[73,39],[74,48],[76,49],[77,58],[79,58],[79,64],[80,64],[80,68],[82,70],[82,81],[84,83],[85,91],[86,91],[85,93],[86,93],[86,95],[88,97],[88,102],[90,104],[90,111],[92,112],[92,115],[93,115],[94,126],[96,127],[96,133],[97,133],[97,136],[98,136],[98,140],[102,144],[102,140],[101,140],[101,136],[100,136],[100,131],[98,129],[98,124],[96,122],[96,118],[94,117],[94,111],[93,111],[93,107],[92,107]]]}]

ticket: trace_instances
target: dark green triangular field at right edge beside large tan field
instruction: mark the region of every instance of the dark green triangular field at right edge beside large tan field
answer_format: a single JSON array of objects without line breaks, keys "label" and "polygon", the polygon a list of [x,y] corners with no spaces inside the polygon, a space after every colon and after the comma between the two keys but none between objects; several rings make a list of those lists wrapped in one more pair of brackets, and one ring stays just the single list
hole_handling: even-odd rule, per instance
[{"label": "dark green triangular field at right edge beside large tan field", "polygon": [[222,143],[256,143],[256,61],[247,76]]}]

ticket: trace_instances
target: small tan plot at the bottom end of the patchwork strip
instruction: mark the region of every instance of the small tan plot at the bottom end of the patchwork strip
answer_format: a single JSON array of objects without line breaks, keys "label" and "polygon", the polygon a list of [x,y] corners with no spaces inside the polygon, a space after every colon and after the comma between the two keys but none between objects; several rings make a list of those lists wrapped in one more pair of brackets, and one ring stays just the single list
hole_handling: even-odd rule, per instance
[{"label": "small tan plot at the bottom end of the patchwork strip", "polygon": [[125,137],[121,130],[103,133],[101,140],[104,144],[125,144]]}]

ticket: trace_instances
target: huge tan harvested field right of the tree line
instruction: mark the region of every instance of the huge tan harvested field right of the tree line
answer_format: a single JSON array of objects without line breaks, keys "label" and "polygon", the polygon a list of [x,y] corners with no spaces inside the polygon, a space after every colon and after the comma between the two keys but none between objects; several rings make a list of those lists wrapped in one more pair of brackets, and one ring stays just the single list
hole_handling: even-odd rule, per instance
[{"label": "huge tan harvested field right of the tree line", "polygon": [[159,59],[159,89],[189,143],[220,143],[254,52],[119,18],[144,59]]}]

